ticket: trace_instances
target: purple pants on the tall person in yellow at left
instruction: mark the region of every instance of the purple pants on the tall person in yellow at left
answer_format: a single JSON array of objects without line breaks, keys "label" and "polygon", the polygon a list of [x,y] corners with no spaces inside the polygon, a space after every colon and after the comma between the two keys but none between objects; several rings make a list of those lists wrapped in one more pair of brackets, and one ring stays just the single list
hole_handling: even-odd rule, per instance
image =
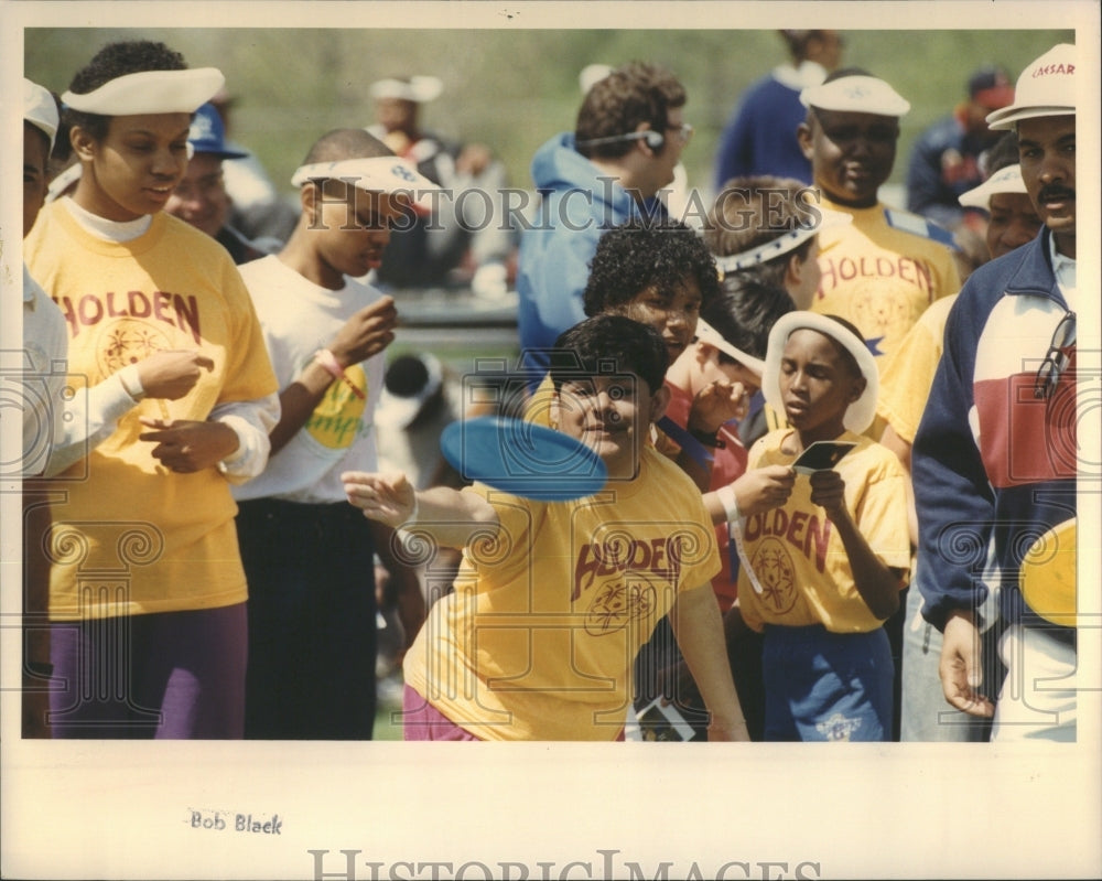
[{"label": "purple pants on the tall person in yellow at left", "polygon": [[245,603],[51,625],[54,738],[239,739]]}]

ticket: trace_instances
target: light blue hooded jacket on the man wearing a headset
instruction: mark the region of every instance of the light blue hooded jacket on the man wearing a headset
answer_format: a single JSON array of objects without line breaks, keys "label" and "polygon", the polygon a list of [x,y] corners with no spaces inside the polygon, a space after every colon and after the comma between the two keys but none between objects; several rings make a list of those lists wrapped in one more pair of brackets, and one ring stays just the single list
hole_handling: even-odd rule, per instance
[{"label": "light blue hooded jacket on the man wearing a headset", "polygon": [[532,180],[541,196],[538,216],[520,237],[517,293],[522,363],[539,384],[549,358],[540,350],[585,318],[582,293],[590,262],[605,229],[634,215],[665,215],[660,201],[638,207],[630,194],[574,149],[574,136],[558,135],[532,159]]}]

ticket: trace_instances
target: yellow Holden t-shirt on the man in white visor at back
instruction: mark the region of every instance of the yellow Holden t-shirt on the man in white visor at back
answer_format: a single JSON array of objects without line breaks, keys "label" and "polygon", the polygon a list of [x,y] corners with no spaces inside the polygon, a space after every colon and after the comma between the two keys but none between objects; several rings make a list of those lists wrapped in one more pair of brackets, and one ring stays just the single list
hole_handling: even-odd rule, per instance
[{"label": "yellow Holden t-shirt on the man in white visor at back", "polygon": [[851,215],[853,223],[819,234],[822,280],[811,310],[855,324],[883,369],[883,356],[927,307],[960,290],[957,264],[948,246],[890,225],[886,212],[897,223],[914,215],[880,204],[847,208],[825,198],[822,204]]}]

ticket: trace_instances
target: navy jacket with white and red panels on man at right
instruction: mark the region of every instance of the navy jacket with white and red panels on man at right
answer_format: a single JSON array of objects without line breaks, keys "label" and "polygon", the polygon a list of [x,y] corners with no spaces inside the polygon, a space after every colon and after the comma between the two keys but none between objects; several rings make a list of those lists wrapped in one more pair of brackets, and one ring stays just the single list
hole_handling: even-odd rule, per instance
[{"label": "navy jacket with white and red panels on man at right", "polygon": [[1034,395],[1038,367],[1068,310],[1049,237],[1042,229],[976,269],[946,324],[912,451],[922,613],[939,630],[952,610],[979,608],[987,581],[1000,587],[1006,623],[1073,637],[1071,628],[1041,622],[1018,590],[1029,546],[1076,517],[1073,351],[1052,397]]}]

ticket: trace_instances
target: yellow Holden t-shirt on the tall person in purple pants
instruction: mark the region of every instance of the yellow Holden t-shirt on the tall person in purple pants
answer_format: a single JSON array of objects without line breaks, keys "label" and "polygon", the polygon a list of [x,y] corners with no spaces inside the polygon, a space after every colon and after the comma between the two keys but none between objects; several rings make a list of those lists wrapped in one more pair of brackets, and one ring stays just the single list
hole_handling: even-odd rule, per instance
[{"label": "yellow Holden t-shirt on the tall person in purple pants", "polygon": [[[198,350],[215,363],[191,393],[163,401],[172,419],[204,420],[219,404],[278,387],[252,302],[229,255],[165,214],[127,243],[89,235],[61,202],[24,241],[28,267],[68,326],[73,382],[94,386],[160,350]],[[214,609],[244,602],[229,484],[215,468],[176,474],[138,440],[144,399],[115,432],[58,476],[53,620]]]}]

